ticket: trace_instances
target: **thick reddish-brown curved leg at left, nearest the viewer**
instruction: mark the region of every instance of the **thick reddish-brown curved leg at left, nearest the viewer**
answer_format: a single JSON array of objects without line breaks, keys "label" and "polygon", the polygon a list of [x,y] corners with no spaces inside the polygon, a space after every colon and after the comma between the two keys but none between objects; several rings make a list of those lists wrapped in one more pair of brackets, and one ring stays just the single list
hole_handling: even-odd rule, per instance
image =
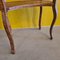
[{"label": "thick reddish-brown curved leg at left, nearest the viewer", "polygon": [[10,42],[10,46],[11,46],[11,53],[14,54],[15,49],[14,49],[14,42],[13,42],[12,33],[11,33],[11,26],[10,26],[8,18],[7,18],[7,13],[5,13],[4,11],[2,11],[2,20],[3,20],[4,29],[9,38],[9,42]]}]

